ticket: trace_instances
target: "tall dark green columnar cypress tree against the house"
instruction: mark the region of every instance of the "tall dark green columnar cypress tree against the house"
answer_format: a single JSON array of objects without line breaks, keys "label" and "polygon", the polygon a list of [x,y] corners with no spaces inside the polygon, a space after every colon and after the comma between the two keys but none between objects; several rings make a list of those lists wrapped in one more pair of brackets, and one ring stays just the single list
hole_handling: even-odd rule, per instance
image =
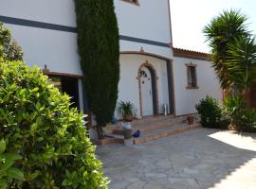
[{"label": "tall dark green columnar cypress tree against the house", "polygon": [[118,21],[113,0],[75,0],[75,9],[83,83],[101,139],[118,99]]}]

